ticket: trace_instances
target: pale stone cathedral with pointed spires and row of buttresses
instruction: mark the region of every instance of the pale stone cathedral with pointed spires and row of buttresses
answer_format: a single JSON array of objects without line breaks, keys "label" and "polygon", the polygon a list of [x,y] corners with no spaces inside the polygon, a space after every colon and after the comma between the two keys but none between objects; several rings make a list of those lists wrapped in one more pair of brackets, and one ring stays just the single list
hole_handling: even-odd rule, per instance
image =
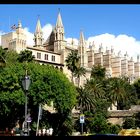
[{"label": "pale stone cathedral with pointed spires and row of buttresses", "polygon": [[[35,56],[35,60],[40,64],[54,65],[61,69],[69,79],[71,79],[71,72],[66,67],[65,59],[71,50],[77,50],[81,58],[81,66],[86,68],[86,76],[81,77],[80,85],[83,85],[86,79],[90,78],[93,65],[105,67],[107,77],[128,76],[130,82],[140,77],[139,56],[137,56],[137,61],[134,62],[132,57],[128,57],[127,52],[124,56],[121,55],[121,51],[116,54],[113,47],[110,50],[106,48],[104,51],[102,44],[97,49],[94,42],[87,47],[83,31],[80,32],[78,45],[75,45],[73,40],[68,43],[64,36],[65,30],[59,11],[56,25],[47,39],[43,38],[41,22],[38,19],[34,32],[34,45],[26,45],[26,35],[21,21],[19,21],[15,31],[2,35],[1,45],[3,48],[15,50],[18,53],[25,49],[30,50]],[[78,84],[76,78],[74,83],[75,85]]]}]

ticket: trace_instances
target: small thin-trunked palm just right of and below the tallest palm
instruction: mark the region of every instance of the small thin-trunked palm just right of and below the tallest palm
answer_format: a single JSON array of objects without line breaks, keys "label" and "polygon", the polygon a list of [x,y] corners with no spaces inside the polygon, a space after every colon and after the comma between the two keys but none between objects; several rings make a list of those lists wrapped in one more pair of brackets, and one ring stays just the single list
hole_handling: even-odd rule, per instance
[{"label": "small thin-trunked palm just right of and below the tallest palm", "polygon": [[78,78],[78,87],[80,86],[80,77],[85,76],[86,69],[84,67],[77,67],[74,72],[74,76]]}]

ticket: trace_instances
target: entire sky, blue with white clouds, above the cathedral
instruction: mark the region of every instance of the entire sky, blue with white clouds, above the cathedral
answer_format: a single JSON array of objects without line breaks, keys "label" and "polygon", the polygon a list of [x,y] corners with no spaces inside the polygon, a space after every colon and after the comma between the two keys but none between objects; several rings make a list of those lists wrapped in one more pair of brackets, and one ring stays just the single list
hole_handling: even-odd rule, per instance
[{"label": "entire sky, blue with white clouds, above the cathedral", "polygon": [[140,4],[1,4],[0,35],[11,32],[10,27],[21,20],[27,44],[33,45],[39,15],[46,40],[59,8],[68,42],[74,38],[78,44],[82,30],[87,47],[94,41],[97,49],[102,43],[104,50],[112,46],[116,53],[121,50],[122,56],[126,51],[134,58],[140,54]]}]

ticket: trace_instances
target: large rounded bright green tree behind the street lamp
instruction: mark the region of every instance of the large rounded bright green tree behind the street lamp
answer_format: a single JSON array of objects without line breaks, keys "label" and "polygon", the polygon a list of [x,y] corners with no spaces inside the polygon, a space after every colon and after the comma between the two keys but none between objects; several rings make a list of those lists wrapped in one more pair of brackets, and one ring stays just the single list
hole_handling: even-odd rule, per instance
[{"label": "large rounded bright green tree behind the street lamp", "polygon": [[[24,120],[25,95],[21,85],[21,79],[25,74],[23,65],[15,62],[1,72],[1,127],[13,126],[17,119],[20,119],[22,124]],[[48,104],[53,101],[57,111],[53,128],[57,135],[76,103],[76,89],[62,72],[52,66],[28,63],[28,74],[32,80],[28,94],[28,108],[31,109],[32,123],[37,121],[39,104]]]}]

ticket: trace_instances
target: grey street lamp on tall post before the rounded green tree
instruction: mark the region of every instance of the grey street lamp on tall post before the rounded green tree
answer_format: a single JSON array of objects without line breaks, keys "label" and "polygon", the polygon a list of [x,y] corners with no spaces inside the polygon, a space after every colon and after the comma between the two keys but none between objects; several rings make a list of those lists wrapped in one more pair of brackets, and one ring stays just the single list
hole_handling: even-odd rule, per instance
[{"label": "grey street lamp on tall post before the rounded green tree", "polygon": [[25,75],[25,77],[22,79],[22,86],[25,91],[25,121],[24,121],[24,133],[29,134],[29,130],[27,127],[27,95],[28,95],[28,89],[30,86],[31,80],[28,75]]}]

